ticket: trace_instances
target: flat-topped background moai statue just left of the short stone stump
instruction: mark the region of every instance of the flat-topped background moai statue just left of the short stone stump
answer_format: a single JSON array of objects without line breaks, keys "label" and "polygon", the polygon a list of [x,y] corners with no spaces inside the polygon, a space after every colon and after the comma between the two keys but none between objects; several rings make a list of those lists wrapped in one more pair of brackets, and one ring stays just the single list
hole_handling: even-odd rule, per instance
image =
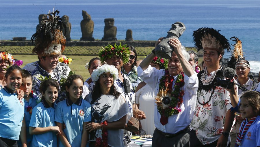
[{"label": "flat-topped background moai statue just left of the short stone stump", "polygon": [[116,27],[114,26],[114,18],[105,18],[104,37],[102,41],[117,41]]}]

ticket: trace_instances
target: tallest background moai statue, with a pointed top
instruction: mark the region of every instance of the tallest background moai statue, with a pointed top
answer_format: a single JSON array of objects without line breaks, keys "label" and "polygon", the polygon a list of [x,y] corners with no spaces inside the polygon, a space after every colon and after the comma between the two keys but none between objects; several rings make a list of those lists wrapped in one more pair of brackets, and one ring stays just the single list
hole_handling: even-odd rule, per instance
[{"label": "tallest background moai statue, with a pointed top", "polygon": [[82,10],[83,20],[80,22],[82,37],[80,41],[94,41],[92,37],[94,31],[94,22],[91,20],[91,16],[84,10]]}]

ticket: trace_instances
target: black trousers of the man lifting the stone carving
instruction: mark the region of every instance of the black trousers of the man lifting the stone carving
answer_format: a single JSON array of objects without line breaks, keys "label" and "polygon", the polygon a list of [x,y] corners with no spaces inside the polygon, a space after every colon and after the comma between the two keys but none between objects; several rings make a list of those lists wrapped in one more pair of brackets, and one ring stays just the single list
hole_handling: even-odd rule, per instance
[{"label": "black trousers of the man lifting the stone carving", "polygon": [[189,147],[190,146],[190,130],[184,131],[174,137],[165,137],[161,132],[157,129],[154,130],[153,147]]}]

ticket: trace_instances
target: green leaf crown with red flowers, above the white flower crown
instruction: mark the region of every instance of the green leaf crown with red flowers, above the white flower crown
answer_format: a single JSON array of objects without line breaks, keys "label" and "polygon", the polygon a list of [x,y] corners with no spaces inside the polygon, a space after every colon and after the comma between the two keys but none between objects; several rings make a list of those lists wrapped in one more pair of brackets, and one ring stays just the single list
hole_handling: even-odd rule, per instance
[{"label": "green leaf crown with red flowers, above the white flower crown", "polygon": [[113,57],[113,55],[116,55],[122,57],[123,64],[128,63],[130,51],[126,46],[127,44],[121,46],[120,42],[119,45],[116,45],[115,43],[114,46],[108,44],[104,48],[102,47],[102,49],[99,51],[99,57],[101,59],[101,62],[104,62],[106,59],[110,59]]}]

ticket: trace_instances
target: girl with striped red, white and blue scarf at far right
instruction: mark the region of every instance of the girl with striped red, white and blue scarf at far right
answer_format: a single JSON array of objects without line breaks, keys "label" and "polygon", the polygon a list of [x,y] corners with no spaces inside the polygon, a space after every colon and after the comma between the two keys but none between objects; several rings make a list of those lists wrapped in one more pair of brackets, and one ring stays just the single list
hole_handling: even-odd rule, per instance
[{"label": "girl with striped red, white and blue scarf at far right", "polygon": [[246,91],[239,106],[245,120],[241,123],[235,146],[260,146],[260,93]]}]

